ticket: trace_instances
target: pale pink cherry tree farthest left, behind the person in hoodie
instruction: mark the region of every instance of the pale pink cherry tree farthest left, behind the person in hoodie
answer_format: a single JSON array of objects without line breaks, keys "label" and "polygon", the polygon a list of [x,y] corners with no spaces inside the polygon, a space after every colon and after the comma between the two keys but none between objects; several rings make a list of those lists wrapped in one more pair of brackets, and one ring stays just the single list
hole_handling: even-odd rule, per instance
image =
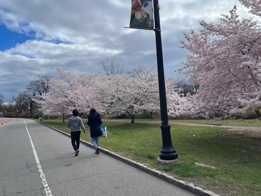
[{"label": "pale pink cherry tree farthest left, behind the person in hoodie", "polygon": [[44,101],[37,102],[42,107],[44,114],[53,116],[71,114],[71,111],[75,108],[83,114],[97,105],[97,101],[94,100],[96,97],[91,93],[93,91],[90,82],[96,75],[85,76],[80,73],[75,75],[59,68],[57,68],[57,73],[59,80],[51,79],[50,81],[53,92],[43,95]]}]

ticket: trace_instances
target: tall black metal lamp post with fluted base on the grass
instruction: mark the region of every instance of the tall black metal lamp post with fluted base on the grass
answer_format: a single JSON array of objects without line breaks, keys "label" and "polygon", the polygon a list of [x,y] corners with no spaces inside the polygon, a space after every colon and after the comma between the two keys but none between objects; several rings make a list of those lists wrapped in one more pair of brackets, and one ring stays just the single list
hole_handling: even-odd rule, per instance
[{"label": "tall black metal lamp post with fluted base on the grass", "polygon": [[175,160],[178,159],[178,153],[172,146],[170,125],[168,120],[165,78],[163,68],[163,55],[162,55],[162,41],[160,30],[159,9],[160,5],[158,0],[153,0],[154,7],[154,21],[155,21],[155,37],[156,37],[156,50],[157,50],[157,65],[158,65],[158,87],[159,87],[159,100],[160,100],[160,113],[161,113],[161,134],[162,134],[162,149],[160,150],[159,158],[162,160]]}]

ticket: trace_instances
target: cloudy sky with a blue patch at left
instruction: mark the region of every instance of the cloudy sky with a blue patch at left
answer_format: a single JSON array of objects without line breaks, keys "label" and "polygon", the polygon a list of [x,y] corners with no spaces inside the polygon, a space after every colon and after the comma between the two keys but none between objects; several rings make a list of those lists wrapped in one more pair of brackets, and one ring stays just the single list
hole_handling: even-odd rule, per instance
[{"label": "cloudy sky with a blue patch at left", "polygon": [[[189,54],[179,48],[183,32],[217,21],[234,0],[159,0],[164,71]],[[251,16],[236,2],[240,18]],[[4,101],[24,91],[37,74],[57,78],[66,72],[95,74],[103,58],[120,59],[131,70],[157,65],[155,32],[128,29],[130,0],[0,0],[0,93]]]}]

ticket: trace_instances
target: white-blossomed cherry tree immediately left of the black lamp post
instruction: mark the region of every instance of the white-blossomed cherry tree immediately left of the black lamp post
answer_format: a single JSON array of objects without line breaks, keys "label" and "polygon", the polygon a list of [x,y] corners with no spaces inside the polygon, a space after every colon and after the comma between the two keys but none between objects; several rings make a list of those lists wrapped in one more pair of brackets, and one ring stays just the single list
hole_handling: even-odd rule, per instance
[{"label": "white-blossomed cherry tree immediately left of the black lamp post", "polygon": [[97,78],[94,86],[106,111],[113,115],[129,114],[131,123],[142,110],[155,111],[159,107],[158,76],[155,66],[138,65],[129,74]]}]

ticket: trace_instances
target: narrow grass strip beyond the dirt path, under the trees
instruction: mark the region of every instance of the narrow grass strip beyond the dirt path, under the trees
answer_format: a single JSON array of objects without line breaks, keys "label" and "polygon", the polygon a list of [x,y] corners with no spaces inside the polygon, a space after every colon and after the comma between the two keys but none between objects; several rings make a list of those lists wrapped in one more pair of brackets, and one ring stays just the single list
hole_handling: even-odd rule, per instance
[{"label": "narrow grass strip beyond the dirt path, under the trees", "polygon": [[[142,121],[160,121],[156,119],[135,119]],[[169,120],[183,123],[200,123],[200,124],[220,124],[220,125],[231,125],[231,126],[248,126],[248,127],[261,127],[261,121],[256,119],[245,119],[245,120],[229,120],[229,121],[207,121],[207,120]]]}]

